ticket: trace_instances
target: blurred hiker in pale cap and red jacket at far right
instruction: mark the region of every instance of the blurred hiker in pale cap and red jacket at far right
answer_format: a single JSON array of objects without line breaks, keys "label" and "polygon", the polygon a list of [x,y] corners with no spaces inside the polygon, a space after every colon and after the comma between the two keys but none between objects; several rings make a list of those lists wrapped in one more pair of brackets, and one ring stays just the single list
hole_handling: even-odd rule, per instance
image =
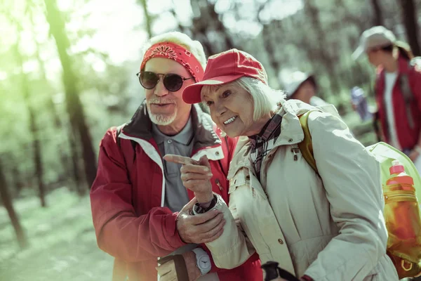
[{"label": "blurred hiker in pale cap and red jacket at far right", "polygon": [[361,34],[356,60],[366,54],[377,68],[375,100],[382,140],[405,152],[421,173],[421,67],[413,54],[385,27]]}]

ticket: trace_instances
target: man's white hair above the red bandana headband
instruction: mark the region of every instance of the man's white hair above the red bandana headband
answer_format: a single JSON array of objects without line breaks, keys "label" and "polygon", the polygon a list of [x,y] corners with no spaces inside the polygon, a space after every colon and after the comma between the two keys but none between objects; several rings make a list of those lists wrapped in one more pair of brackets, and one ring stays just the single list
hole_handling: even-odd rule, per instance
[{"label": "man's white hair above the red bandana headband", "polygon": [[192,40],[190,37],[187,36],[187,34],[177,31],[166,32],[152,37],[143,46],[142,54],[145,55],[148,48],[150,48],[154,44],[158,44],[161,42],[171,42],[186,48],[187,51],[194,55],[194,58],[199,60],[199,63],[203,67],[203,70],[206,68],[206,55],[205,51],[203,51],[202,44],[199,41]]}]

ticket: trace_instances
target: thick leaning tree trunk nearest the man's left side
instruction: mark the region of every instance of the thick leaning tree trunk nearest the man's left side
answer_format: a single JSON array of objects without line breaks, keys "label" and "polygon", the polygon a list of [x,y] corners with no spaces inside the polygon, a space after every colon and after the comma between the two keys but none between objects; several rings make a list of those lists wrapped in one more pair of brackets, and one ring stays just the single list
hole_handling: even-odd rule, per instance
[{"label": "thick leaning tree trunk nearest the man's left side", "polygon": [[46,18],[50,25],[51,34],[55,39],[58,55],[63,68],[63,83],[65,86],[66,107],[70,124],[81,141],[84,171],[88,188],[91,188],[96,176],[96,157],[92,145],[91,133],[86,124],[85,113],[77,89],[78,79],[73,70],[72,60],[67,53],[70,47],[69,38],[65,32],[65,22],[58,10],[55,0],[44,0],[46,4]]}]

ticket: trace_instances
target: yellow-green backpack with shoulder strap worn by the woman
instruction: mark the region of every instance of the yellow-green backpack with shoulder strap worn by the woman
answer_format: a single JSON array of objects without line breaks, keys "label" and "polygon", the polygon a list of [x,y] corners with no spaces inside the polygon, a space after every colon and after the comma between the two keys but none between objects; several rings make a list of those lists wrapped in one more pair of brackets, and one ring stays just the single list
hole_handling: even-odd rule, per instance
[{"label": "yellow-green backpack with shoulder strap worn by the woman", "polygon": [[[302,157],[306,159],[308,164],[312,166],[312,169],[316,171],[316,174],[319,175],[317,170],[316,160],[313,155],[313,145],[312,145],[312,136],[310,135],[308,127],[308,117],[309,113],[312,111],[323,111],[320,110],[309,110],[303,115],[299,116],[300,124],[302,130],[304,131],[304,140],[298,144],[298,148],[302,153]],[[382,181],[383,195],[385,197],[385,222],[386,227],[392,226],[393,224],[400,225],[399,223],[399,207],[403,204],[410,204],[411,207],[408,207],[412,220],[411,220],[411,229],[415,229],[415,239],[413,240],[402,240],[399,238],[399,233],[396,231],[387,228],[389,233],[389,238],[387,240],[387,254],[394,263],[396,271],[399,275],[399,279],[403,277],[417,277],[421,275],[421,208],[418,198],[421,198],[421,177],[413,162],[401,151],[396,150],[387,143],[375,143],[366,148],[374,157],[377,159],[377,162],[380,163],[380,175]],[[392,191],[394,200],[387,200],[388,195],[392,192],[388,192],[389,189],[386,189],[386,181],[390,177],[389,167],[392,166],[393,160],[399,160],[401,164],[405,167],[405,172],[411,176],[414,180],[415,187],[415,198],[408,197],[406,190],[399,190],[396,194],[396,190]],[[416,204],[414,204],[416,202]],[[405,225],[402,225],[403,230]],[[400,229],[400,231],[402,230]]]}]

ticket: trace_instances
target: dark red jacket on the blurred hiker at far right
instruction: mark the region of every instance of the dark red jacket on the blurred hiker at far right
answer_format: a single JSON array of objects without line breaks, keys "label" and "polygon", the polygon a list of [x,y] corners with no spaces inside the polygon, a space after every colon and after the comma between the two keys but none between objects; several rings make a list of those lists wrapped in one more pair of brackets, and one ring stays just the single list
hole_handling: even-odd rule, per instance
[{"label": "dark red jacket on the blurred hiker at far right", "polygon": [[[421,132],[421,69],[420,67],[410,67],[408,60],[399,57],[398,77],[392,91],[392,103],[394,107],[394,117],[396,133],[402,149],[412,149],[418,142]],[[414,126],[410,128],[408,116],[406,114],[406,103],[401,91],[400,79],[405,74],[408,76],[410,89],[413,93],[414,102],[410,105]],[[387,117],[385,110],[385,69],[380,67],[377,71],[375,98],[379,109],[380,124],[384,140],[389,143],[387,127]]]}]

